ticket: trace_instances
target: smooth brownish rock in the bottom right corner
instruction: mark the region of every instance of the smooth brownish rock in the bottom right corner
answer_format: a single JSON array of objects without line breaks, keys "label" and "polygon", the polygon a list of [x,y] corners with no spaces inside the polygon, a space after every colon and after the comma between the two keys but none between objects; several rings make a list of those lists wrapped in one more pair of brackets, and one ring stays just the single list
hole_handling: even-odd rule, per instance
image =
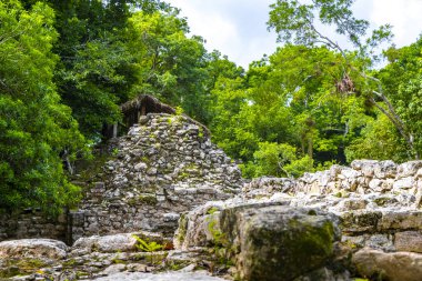
[{"label": "smooth brownish rock in the bottom right corner", "polygon": [[420,281],[422,254],[410,252],[385,253],[362,249],[353,254],[352,262],[360,275],[390,281]]}]

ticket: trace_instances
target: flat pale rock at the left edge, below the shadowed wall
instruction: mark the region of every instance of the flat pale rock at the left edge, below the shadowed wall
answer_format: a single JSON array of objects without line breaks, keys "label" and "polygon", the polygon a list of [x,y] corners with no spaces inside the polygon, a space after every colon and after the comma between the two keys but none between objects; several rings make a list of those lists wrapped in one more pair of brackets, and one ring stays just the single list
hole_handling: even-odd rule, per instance
[{"label": "flat pale rock at the left edge, below the shadowed wall", "polygon": [[0,242],[0,259],[50,259],[67,257],[68,247],[52,239],[21,239]]}]

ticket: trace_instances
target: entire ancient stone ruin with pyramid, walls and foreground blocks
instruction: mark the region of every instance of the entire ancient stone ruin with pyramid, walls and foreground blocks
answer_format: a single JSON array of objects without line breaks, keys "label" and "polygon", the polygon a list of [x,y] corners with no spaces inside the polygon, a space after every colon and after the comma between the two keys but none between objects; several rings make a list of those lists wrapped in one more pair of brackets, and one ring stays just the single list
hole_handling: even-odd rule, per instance
[{"label": "entire ancient stone ruin with pyramid, walls and foreground blocks", "polygon": [[[145,272],[163,270],[164,280],[421,280],[422,161],[247,181],[207,128],[138,116],[142,102],[129,107],[138,122],[128,134],[79,178],[78,210],[2,214],[0,278],[154,280]],[[13,240],[34,237],[44,239]]]}]

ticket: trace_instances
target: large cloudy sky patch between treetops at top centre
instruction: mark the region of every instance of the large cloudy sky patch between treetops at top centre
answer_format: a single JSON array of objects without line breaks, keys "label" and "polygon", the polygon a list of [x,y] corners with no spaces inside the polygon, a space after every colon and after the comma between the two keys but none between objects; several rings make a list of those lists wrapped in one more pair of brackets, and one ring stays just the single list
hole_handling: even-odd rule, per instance
[{"label": "large cloudy sky patch between treetops at top centre", "polygon": [[275,34],[267,31],[272,0],[170,0],[188,18],[192,34],[207,40],[209,51],[219,50],[248,68],[264,53],[275,51]]}]

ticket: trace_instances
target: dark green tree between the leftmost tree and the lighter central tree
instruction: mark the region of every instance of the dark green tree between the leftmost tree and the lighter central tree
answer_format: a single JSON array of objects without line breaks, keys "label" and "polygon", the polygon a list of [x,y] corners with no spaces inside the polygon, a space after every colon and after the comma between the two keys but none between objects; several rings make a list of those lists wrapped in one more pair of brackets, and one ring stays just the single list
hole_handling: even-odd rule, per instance
[{"label": "dark green tree between the leftmost tree and the lighter central tree", "polygon": [[128,100],[135,81],[121,36],[129,17],[127,1],[50,2],[60,34],[53,49],[60,56],[54,81],[82,132],[98,139],[103,123],[120,120],[119,103]]}]

